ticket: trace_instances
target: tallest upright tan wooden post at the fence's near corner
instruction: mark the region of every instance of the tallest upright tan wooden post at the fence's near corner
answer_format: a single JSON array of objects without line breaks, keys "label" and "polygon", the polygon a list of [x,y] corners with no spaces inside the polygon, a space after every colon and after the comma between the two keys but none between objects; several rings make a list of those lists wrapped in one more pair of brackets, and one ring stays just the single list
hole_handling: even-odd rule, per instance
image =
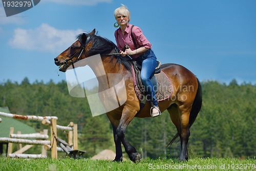
[{"label": "tallest upright tan wooden post at the fence's near corner", "polygon": [[51,151],[52,151],[52,159],[57,159],[57,127],[56,127],[56,119],[51,119]]}]

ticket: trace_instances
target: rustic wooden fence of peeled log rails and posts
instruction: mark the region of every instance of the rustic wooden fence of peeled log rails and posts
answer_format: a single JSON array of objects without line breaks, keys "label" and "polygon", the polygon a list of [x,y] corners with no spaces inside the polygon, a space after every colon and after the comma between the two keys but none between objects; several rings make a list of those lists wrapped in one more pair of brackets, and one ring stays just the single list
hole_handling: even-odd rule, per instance
[{"label": "rustic wooden fence of peeled log rails and posts", "polygon": [[[51,151],[51,158],[57,159],[57,152],[65,152],[69,156],[76,158],[76,154],[82,154],[85,151],[78,151],[77,124],[70,122],[68,126],[57,125],[57,117],[55,116],[23,116],[0,112],[0,116],[13,119],[37,120],[44,125],[50,126],[51,137],[48,136],[48,130],[44,130],[42,134],[14,134],[14,127],[10,128],[10,138],[0,137],[0,142],[8,143],[8,157],[18,158],[46,158],[47,150]],[[2,119],[0,118],[0,122]],[[57,130],[62,130],[68,133],[68,142],[57,137]],[[30,140],[35,139],[35,140]],[[12,143],[19,144],[18,151],[12,153]],[[22,144],[25,146],[22,147]],[[33,145],[42,145],[41,154],[23,154]],[[59,145],[59,147],[57,146]]]}]

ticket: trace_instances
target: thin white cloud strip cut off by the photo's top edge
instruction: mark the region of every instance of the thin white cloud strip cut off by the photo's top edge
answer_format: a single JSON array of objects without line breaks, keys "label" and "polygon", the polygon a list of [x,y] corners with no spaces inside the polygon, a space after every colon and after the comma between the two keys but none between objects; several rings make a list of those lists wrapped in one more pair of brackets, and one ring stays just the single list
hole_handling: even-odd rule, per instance
[{"label": "thin white cloud strip cut off by the photo's top edge", "polygon": [[43,2],[52,2],[56,4],[67,5],[96,5],[98,3],[111,3],[112,0],[44,0]]}]

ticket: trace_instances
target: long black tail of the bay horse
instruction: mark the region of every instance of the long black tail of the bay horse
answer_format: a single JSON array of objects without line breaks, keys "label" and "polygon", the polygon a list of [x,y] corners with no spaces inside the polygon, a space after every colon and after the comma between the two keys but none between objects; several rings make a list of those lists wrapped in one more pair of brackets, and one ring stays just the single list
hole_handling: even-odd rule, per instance
[{"label": "long black tail of the bay horse", "polygon": [[[195,100],[193,102],[193,105],[192,105],[192,109],[191,109],[191,112],[190,112],[190,115],[189,115],[189,121],[188,121],[188,127],[190,128],[193,123],[195,122],[196,118],[197,118],[197,115],[199,113],[199,111],[201,110],[201,107],[202,107],[202,87],[201,87],[201,84],[197,78],[197,82],[198,82],[198,88],[197,88],[197,94],[196,94],[196,97],[195,97]],[[173,142],[179,137],[179,134],[177,133],[174,138],[169,142],[169,145],[172,145]]]}]

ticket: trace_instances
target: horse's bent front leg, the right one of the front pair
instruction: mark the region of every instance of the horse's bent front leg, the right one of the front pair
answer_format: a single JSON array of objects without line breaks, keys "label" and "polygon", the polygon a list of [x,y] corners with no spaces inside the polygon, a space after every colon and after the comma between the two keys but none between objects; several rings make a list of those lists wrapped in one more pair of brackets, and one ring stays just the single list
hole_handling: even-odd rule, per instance
[{"label": "horse's bent front leg, the right one of the front pair", "polygon": [[139,109],[135,109],[133,106],[125,106],[123,109],[122,117],[120,120],[120,123],[117,127],[116,134],[119,140],[121,140],[125,152],[128,154],[130,160],[133,162],[139,162],[140,161],[140,154],[136,151],[135,147],[133,147],[125,138],[125,129],[131,122],[131,120],[134,118],[134,116],[137,114]]}]

